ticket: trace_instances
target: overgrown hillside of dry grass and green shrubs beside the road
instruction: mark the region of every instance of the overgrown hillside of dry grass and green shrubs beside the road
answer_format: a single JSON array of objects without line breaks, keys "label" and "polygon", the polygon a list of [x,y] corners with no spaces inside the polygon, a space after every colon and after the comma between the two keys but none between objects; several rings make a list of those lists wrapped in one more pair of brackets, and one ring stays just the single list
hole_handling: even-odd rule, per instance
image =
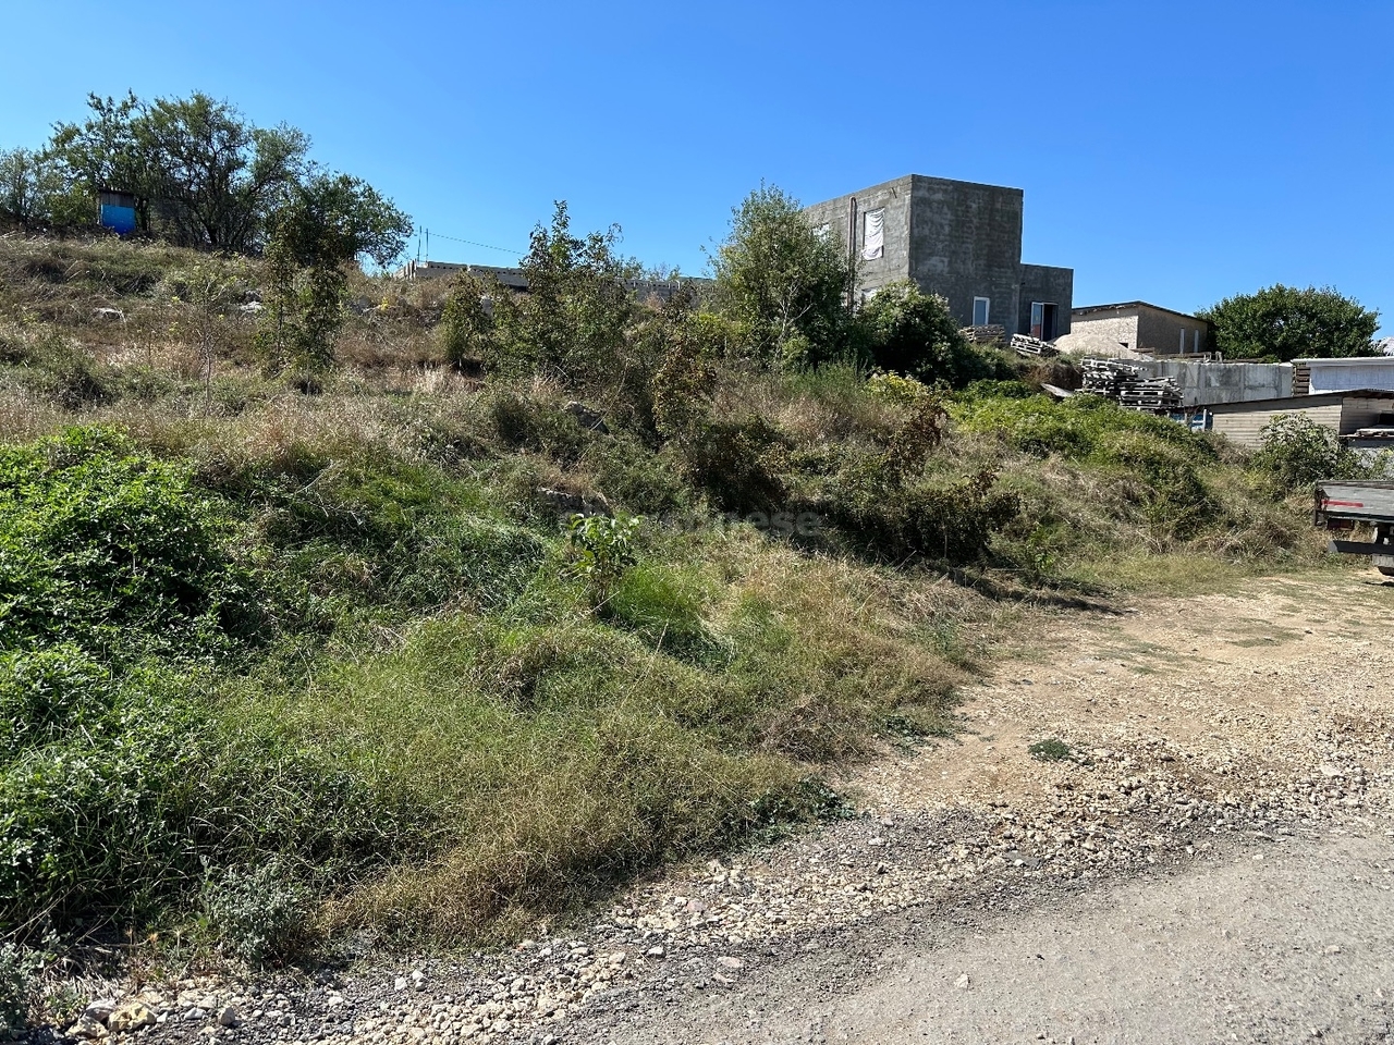
[{"label": "overgrown hillside of dry grass and green shrubs beside the road", "polygon": [[360,279],[340,366],[266,376],[220,265],[0,240],[7,935],[506,934],[836,814],[1018,599],[1319,559],[1242,456],[1029,373],[771,372],[645,308],[604,379],[481,379],[449,288]]}]

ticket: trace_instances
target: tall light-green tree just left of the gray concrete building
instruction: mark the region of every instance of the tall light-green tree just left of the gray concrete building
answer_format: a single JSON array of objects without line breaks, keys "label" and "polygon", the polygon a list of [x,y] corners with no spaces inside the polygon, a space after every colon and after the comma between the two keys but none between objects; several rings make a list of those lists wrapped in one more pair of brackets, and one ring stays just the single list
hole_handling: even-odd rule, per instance
[{"label": "tall light-green tree just left of the gray concrete building", "polygon": [[717,307],[742,325],[760,362],[800,366],[845,351],[855,266],[838,237],[809,224],[797,199],[775,185],[746,196],[711,265]]}]

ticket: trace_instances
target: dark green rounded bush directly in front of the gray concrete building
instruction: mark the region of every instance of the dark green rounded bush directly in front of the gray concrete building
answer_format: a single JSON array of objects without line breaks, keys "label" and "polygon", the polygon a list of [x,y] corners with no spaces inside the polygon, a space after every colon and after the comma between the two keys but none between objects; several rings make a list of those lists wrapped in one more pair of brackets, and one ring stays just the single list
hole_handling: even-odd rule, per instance
[{"label": "dark green rounded bush directly in front of the gray concrete building", "polygon": [[948,301],[910,280],[882,287],[857,312],[863,351],[885,371],[962,389],[997,368],[959,333]]}]

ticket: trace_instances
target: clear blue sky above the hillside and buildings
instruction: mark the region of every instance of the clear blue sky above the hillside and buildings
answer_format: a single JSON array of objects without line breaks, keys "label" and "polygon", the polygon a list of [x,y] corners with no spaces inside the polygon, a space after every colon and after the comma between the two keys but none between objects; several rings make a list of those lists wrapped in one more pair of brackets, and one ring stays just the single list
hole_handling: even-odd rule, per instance
[{"label": "clear blue sky above the hillside and buildings", "polygon": [[[118,28],[109,28],[118,26]],[[1026,191],[1075,304],[1190,311],[1333,284],[1394,332],[1394,3],[85,0],[13,4],[0,146],[103,95],[289,121],[512,263],[553,199],[704,266],[761,178],[806,203],[907,173]]]}]

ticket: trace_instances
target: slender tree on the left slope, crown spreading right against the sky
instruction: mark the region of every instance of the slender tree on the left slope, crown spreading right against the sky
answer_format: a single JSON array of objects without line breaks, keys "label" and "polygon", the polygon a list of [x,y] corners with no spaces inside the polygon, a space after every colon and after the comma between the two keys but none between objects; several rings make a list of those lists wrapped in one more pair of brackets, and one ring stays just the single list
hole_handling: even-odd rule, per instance
[{"label": "slender tree on the left slope, crown spreading right against the sky", "polygon": [[269,227],[270,293],[258,336],[268,369],[291,362],[325,371],[343,325],[348,268],[360,259],[385,268],[406,247],[411,219],[360,178],[316,173],[289,189]]}]

